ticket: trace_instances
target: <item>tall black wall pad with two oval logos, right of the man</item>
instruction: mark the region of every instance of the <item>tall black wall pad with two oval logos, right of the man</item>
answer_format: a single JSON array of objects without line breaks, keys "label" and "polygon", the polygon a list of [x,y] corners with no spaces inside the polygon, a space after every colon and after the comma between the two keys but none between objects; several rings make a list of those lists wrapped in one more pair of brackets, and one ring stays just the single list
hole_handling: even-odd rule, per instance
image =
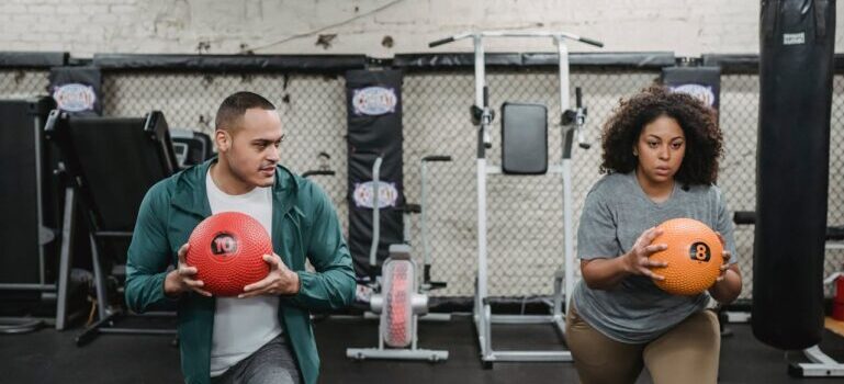
[{"label": "tall black wall pad with two oval logos, right of the man", "polygon": [[[358,276],[372,276],[380,271],[391,244],[403,242],[404,176],[402,171],[402,82],[400,70],[350,70],[346,72],[348,109],[348,200],[349,250]],[[361,204],[368,182],[372,181],[375,158],[383,157],[380,180],[382,191],[394,188],[394,202],[381,208],[381,236],[378,267],[370,268],[372,245],[372,208]],[[371,190],[370,190],[371,191]],[[379,193],[383,195],[383,193]]]}]

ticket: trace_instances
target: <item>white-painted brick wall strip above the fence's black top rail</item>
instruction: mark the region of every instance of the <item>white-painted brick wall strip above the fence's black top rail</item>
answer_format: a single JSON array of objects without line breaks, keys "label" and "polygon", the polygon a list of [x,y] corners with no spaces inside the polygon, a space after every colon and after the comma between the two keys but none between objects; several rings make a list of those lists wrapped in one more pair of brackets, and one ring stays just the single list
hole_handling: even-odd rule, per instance
[{"label": "white-painted brick wall strip above the fence's black top rail", "polygon": [[[238,53],[245,45],[262,54],[390,57],[434,52],[428,42],[469,30],[533,29],[594,37],[607,52],[757,53],[758,13],[757,0],[3,0],[0,50],[69,50],[79,57],[196,53],[207,42],[213,54]],[[312,33],[335,24],[340,25]],[[337,36],[324,48],[315,44],[320,33]],[[392,47],[381,44],[386,35]],[[842,50],[844,27],[836,35]],[[436,50],[469,47],[463,42]],[[550,48],[540,41],[491,45]]]}]

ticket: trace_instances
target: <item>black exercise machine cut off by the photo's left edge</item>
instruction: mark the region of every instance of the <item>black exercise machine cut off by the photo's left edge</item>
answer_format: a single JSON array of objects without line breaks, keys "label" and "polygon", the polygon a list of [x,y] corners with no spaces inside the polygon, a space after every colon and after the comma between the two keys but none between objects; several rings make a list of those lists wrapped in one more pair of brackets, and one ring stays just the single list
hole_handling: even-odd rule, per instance
[{"label": "black exercise machine cut off by the photo's left edge", "polygon": [[[71,241],[63,241],[72,222],[61,223],[65,191],[54,173],[55,150],[42,131],[53,108],[49,98],[0,100],[0,206],[5,221],[0,231],[0,332],[25,332],[44,324],[61,330],[79,315],[72,309],[83,306],[83,287],[71,284]],[[72,301],[79,305],[71,305],[70,296],[81,297]]]}]

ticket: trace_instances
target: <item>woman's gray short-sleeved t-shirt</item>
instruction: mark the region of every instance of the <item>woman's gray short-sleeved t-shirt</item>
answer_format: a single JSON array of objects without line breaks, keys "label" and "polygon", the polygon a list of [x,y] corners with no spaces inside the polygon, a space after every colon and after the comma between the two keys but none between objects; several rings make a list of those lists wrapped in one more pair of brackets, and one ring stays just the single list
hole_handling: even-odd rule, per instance
[{"label": "woman's gray short-sleeved t-shirt", "polygon": [[[601,178],[586,195],[577,230],[577,256],[584,260],[627,253],[648,228],[677,217],[700,221],[720,231],[735,262],[733,226],[721,192],[714,185],[675,183],[668,200],[653,202],[635,173]],[[592,290],[581,280],[572,296],[577,313],[607,337],[628,343],[651,341],[689,315],[704,309],[709,294],[677,296],[650,278],[631,275],[611,290]]]}]

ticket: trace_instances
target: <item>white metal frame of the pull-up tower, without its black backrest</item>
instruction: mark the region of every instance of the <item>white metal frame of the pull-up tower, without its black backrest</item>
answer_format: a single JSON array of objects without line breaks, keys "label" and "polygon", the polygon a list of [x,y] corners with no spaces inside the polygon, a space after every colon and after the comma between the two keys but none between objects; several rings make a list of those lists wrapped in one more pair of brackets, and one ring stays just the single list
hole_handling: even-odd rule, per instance
[{"label": "white metal frame of the pull-up tower, without its black backrest", "polygon": [[[472,38],[474,44],[474,79],[475,79],[475,106],[473,111],[480,112],[479,144],[477,144],[477,280],[475,282],[474,321],[477,329],[477,338],[481,347],[481,360],[485,368],[491,368],[498,361],[572,361],[571,351],[567,350],[508,350],[496,351],[492,342],[492,325],[494,324],[551,324],[561,338],[565,336],[564,306],[567,307],[569,293],[574,287],[574,250],[573,241],[573,213],[572,213],[572,144],[577,138],[581,147],[588,148],[584,142],[579,126],[583,125],[585,113],[579,108],[570,111],[569,100],[569,49],[565,39],[579,41],[594,46],[603,46],[600,42],[581,37],[565,32],[511,32],[491,31],[463,33],[439,39],[429,44],[430,47],[455,42],[463,38]],[[486,240],[486,176],[502,173],[500,166],[492,166],[486,162],[485,149],[492,146],[489,127],[493,121],[493,112],[488,105],[488,89],[485,82],[484,37],[550,37],[553,39],[559,54],[560,77],[560,108],[564,112],[561,117],[571,117],[572,127],[565,131],[563,143],[562,162],[551,166],[549,171],[561,173],[563,182],[563,222],[564,222],[564,270],[554,274],[554,296],[549,315],[493,315],[487,293],[487,240]],[[579,92],[577,92],[579,95]],[[579,99],[579,98],[578,98]],[[578,100],[579,101],[579,100]],[[579,104],[579,103],[578,103]],[[578,105],[579,106],[579,105]],[[572,113],[573,115],[570,115]],[[563,303],[566,297],[566,303]]]}]

